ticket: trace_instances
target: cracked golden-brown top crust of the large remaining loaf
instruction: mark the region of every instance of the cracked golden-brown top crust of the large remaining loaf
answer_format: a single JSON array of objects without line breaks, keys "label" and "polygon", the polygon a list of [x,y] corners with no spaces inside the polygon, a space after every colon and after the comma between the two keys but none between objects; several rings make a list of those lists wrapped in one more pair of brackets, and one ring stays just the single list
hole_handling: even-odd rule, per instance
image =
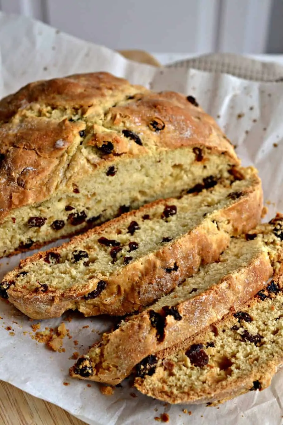
[{"label": "cracked golden-brown top crust of the large remaining loaf", "polygon": [[[152,93],[107,73],[31,83],[0,101],[1,121],[1,221],[14,208],[59,192],[72,193],[77,175],[90,173],[81,161],[83,150],[101,147],[109,138],[114,150],[105,158],[97,153],[93,173],[106,160],[120,161],[117,155],[135,157],[194,146],[224,154],[227,168],[239,164],[216,122],[185,96]],[[139,135],[142,144],[123,130]]]}]

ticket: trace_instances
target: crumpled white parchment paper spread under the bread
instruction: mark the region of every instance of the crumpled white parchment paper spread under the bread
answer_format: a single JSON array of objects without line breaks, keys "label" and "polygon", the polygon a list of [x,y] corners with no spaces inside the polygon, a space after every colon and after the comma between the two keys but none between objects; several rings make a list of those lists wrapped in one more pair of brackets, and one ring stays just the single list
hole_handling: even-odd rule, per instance
[{"label": "crumpled white parchment paper spread under the bread", "polygon": [[[168,69],[140,65],[42,23],[3,14],[0,14],[0,59],[0,97],[36,79],[88,71],[110,71],[157,91],[169,89],[195,96],[238,146],[243,164],[258,168],[269,204],[267,219],[277,210],[283,211],[282,83],[248,81],[228,74],[188,69],[184,64]],[[24,256],[3,259],[0,279]],[[3,301],[0,316],[0,379],[61,406],[88,424],[150,425],[156,424],[154,417],[164,412],[169,414],[170,423],[176,425],[282,424],[283,372],[275,376],[268,389],[250,392],[218,408],[164,405],[134,390],[131,378],[107,397],[100,393],[96,383],[71,380],[68,368],[74,363],[70,359],[73,352],[84,353],[99,338],[99,332],[109,328],[109,319],[83,318],[73,313],[70,322],[66,315],[60,319],[30,321]],[[62,320],[72,336],[63,340],[65,352],[50,351],[31,338],[34,335],[31,325],[40,323],[43,330],[55,328]],[[192,414],[183,413],[183,409]]]}]

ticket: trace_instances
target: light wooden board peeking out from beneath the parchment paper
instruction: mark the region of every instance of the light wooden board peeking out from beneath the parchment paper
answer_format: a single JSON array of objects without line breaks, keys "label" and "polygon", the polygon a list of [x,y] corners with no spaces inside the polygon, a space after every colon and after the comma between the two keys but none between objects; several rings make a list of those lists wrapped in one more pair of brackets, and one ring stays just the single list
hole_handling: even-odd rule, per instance
[{"label": "light wooden board peeking out from beneath the parchment paper", "polygon": [[[149,65],[160,63],[149,53],[141,50],[121,50],[123,56]],[[83,425],[79,419],[60,407],[31,396],[7,382],[0,381],[1,425]]]}]

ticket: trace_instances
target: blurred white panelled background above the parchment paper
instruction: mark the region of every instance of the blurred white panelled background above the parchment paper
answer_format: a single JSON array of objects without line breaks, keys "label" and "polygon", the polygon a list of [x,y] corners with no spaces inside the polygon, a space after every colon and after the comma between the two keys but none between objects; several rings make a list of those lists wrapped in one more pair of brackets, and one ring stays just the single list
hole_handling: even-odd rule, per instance
[{"label": "blurred white panelled background above the parchment paper", "polygon": [[0,0],[0,9],[113,49],[263,53],[274,1]]}]

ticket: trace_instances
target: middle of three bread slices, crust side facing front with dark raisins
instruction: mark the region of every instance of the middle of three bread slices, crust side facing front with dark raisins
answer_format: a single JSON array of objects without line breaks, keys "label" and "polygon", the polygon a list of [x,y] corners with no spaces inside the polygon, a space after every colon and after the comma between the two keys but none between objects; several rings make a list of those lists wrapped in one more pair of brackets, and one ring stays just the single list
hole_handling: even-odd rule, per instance
[{"label": "middle of three bread slices, crust side facing front with dark raisins", "polygon": [[219,262],[202,266],[169,295],[105,333],[78,359],[71,376],[117,384],[138,362],[143,365],[144,357],[173,346],[247,301],[273,269],[280,272],[283,241],[276,229],[282,223],[278,216],[274,223],[233,238]]}]

